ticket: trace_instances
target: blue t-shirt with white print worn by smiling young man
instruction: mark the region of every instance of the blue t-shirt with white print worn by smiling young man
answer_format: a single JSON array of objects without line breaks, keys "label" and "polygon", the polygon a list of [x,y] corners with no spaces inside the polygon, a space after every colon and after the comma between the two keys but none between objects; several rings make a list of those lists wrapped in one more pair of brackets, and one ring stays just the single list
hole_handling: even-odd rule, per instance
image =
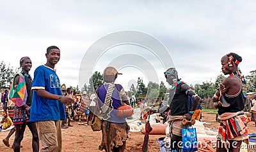
[{"label": "blue t-shirt with white print worn by smiling young man", "polygon": [[[39,66],[34,73],[32,90],[44,89],[45,91],[61,95],[60,79],[50,67]],[[59,100],[51,100],[40,97],[33,92],[30,121],[56,121],[65,120],[65,106]]]}]

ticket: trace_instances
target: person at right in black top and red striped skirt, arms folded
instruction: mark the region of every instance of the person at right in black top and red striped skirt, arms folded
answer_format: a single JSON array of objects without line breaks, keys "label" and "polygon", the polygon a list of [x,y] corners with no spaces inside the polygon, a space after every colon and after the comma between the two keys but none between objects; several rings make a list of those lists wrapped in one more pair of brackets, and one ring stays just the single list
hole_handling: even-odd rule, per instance
[{"label": "person at right in black top and red striped skirt, arms folded", "polygon": [[[236,53],[228,53],[221,58],[221,70],[229,76],[222,81],[220,90],[212,98],[221,120],[216,151],[228,149],[236,152],[240,150],[242,141],[248,141],[247,117],[243,112],[247,85],[237,67],[240,62],[242,58]],[[225,143],[227,141],[229,144]]]}]

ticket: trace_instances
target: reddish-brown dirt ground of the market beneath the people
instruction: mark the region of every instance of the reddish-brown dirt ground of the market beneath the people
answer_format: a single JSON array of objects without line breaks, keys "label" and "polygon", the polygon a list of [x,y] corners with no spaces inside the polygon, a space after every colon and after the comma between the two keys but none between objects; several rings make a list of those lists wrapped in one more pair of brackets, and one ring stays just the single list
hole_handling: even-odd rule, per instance
[{"label": "reddish-brown dirt ground of the market beneath the people", "polygon": [[[202,121],[207,123],[212,123],[211,125],[205,125],[205,127],[212,128],[214,130],[218,129],[219,123],[215,120],[215,114],[203,113]],[[99,151],[98,147],[101,142],[101,132],[93,132],[90,126],[78,125],[78,121],[74,121],[71,124],[74,127],[63,128],[62,131],[62,151]],[[252,134],[256,132],[256,127],[253,122],[248,123],[249,133]],[[2,140],[9,132],[0,132],[0,139]],[[159,143],[157,139],[159,137],[164,137],[164,135],[149,135],[148,142],[148,152],[159,151]],[[141,151],[143,144],[144,134],[141,132],[129,132],[129,139],[127,141],[127,146],[125,152]],[[10,138],[10,144],[13,143],[14,134]],[[20,149],[21,152],[29,152],[31,149],[31,133],[28,127],[26,128],[24,139],[22,140],[23,148]],[[13,151],[13,149],[6,147],[2,141],[0,141],[0,151]]]}]

